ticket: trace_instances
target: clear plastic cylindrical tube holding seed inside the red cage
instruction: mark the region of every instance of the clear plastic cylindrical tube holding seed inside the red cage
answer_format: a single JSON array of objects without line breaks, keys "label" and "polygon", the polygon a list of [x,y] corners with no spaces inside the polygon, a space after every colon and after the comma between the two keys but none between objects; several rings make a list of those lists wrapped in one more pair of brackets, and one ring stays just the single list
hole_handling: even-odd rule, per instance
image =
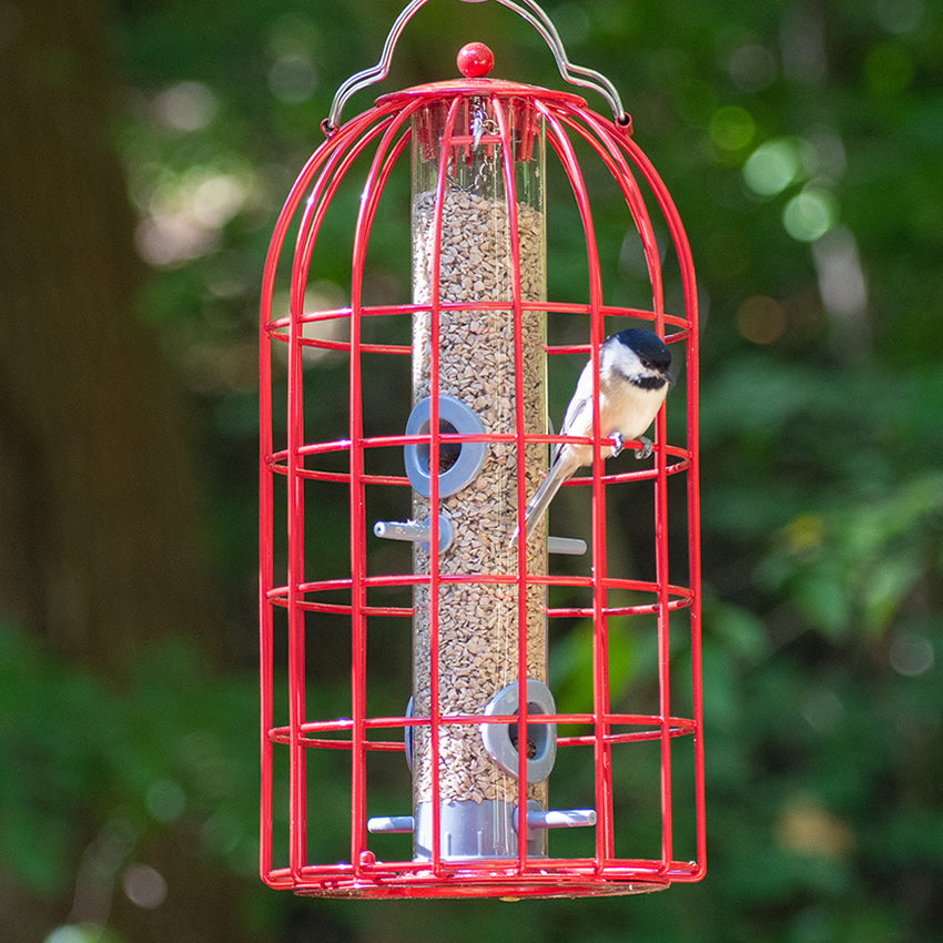
[{"label": "clear plastic cylindrical tube holding seed inside the red cage", "polygon": [[[543,129],[519,99],[446,98],[414,118],[413,301],[429,305],[414,315],[414,404],[430,396],[458,399],[476,413],[486,436],[514,434],[519,422],[524,433],[547,432],[546,313],[520,304],[546,301],[544,159]],[[438,305],[433,304],[436,292]],[[439,429],[455,432],[442,420]],[[442,473],[455,460],[455,444],[440,444],[438,453]],[[439,496],[438,510],[450,519],[455,536],[433,569],[439,577],[472,579],[440,581],[435,591],[426,585],[415,590],[414,713],[433,713],[437,641],[440,721],[437,764],[430,728],[417,727],[413,734],[417,859],[432,856],[436,792],[443,858],[518,854],[517,777],[494,761],[480,724],[467,718],[484,716],[508,685],[547,680],[545,589],[524,590],[524,678],[518,584],[497,579],[518,568],[510,538],[518,523],[520,454],[514,442],[489,440],[475,477],[458,491]],[[523,454],[530,495],[546,466],[546,446],[531,444]],[[417,520],[427,519],[429,499],[414,494],[413,510]],[[428,552],[416,546],[415,571],[429,574],[430,562]],[[546,572],[543,527],[528,541],[527,570]],[[449,717],[466,721],[449,723]],[[515,743],[516,734],[517,726],[508,726]],[[528,782],[526,795],[529,809],[546,809],[546,779]],[[546,853],[546,832],[528,838],[528,853]]]}]

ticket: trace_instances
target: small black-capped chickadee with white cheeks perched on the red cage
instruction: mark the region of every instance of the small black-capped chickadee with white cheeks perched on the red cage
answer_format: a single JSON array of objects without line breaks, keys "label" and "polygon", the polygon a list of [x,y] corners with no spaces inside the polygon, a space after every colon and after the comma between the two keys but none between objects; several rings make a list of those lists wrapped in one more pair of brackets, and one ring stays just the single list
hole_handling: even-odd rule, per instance
[{"label": "small black-capped chickadee with white cheeks perched on the red cage", "polygon": [[[560,435],[587,438],[592,436],[592,362],[582,368]],[[604,446],[604,458],[618,455],[623,439],[638,439],[642,447],[636,458],[651,455],[651,442],[642,433],[651,425],[671,386],[671,352],[651,331],[629,327],[610,334],[599,348],[599,432],[615,439],[615,446]],[[537,523],[560,489],[584,465],[592,464],[592,446],[561,442],[554,453],[547,477],[527,505],[524,514],[524,537],[527,540]],[[517,528],[510,544],[517,541]]]}]

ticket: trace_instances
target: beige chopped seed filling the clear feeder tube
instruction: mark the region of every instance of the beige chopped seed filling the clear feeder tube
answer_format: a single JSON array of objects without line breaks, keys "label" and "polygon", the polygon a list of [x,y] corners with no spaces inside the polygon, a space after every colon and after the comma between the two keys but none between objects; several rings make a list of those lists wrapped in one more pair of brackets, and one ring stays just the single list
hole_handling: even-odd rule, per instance
[{"label": "beige chopped seed filling the clear feeder tube", "polygon": [[[432,250],[436,240],[432,192],[417,194],[413,206],[413,300],[432,300]],[[517,207],[521,295],[545,297],[545,216],[528,204]],[[438,393],[474,409],[486,433],[515,429],[516,378],[514,320],[510,311],[511,264],[508,207],[503,199],[454,190],[443,205],[439,298],[443,304],[468,307],[439,315]],[[483,311],[481,302],[508,302],[508,308]],[[414,403],[430,395],[430,313],[413,321]],[[523,313],[524,363],[520,395],[525,432],[546,433],[546,334],[544,312]],[[508,541],[517,526],[517,448],[490,443],[479,475],[440,501],[440,513],[455,528],[455,540],[439,558],[442,576],[515,574],[517,547]],[[546,463],[546,446],[525,449],[526,494],[533,494]],[[417,520],[429,516],[428,499],[414,493]],[[541,525],[541,528],[544,525]],[[543,531],[527,545],[527,570],[546,572]],[[414,570],[429,571],[428,554],[414,545]],[[545,588],[527,590],[527,673],[546,683]],[[413,677],[414,712],[430,711],[429,589],[414,591]],[[517,803],[517,780],[488,757],[477,723],[447,724],[448,714],[480,714],[506,685],[518,680],[518,598],[514,585],[444,582],[438,588],[439,710],[446,719],[439,734],[439,800],[459,802],[504,800]],[[524,679],[520,679],[521,681]],[[432,801],[429,729],[413,734],[414,805]],[[546,782],[531,784],[528,798],[546,807]]]}]

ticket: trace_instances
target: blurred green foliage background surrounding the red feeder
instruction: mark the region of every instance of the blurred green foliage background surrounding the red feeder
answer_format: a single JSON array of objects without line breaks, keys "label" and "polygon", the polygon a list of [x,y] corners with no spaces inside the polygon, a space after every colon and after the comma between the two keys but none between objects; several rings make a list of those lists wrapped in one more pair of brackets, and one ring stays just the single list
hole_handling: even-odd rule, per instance
[{"label": "blurred green foliage background surrounding the red feeder", "polygon": [[[334,90],[376,60],[400,4],[112,0],[114,138],[153,268],[140,316],[197,417],[231,655],[207,677],[172,638],[115,692],[3,629],[6,882],[61,901],[83,868],[112,868],[121,896],[121,868],[161,870],[154,855],[172,830],[196,874],[225,875],[226,906],[254,940],[883,943],[939,932],[943,9],[544,7],[574,61],[622,93],[698,268],[706,881],[515,905],[298,901],[257,881],[261,267]],[[452,77],[470,39],[493,45],[496,75],[559,87],[543,42],[513,13],[430,0],[382,90]],[[362,94],[345,116],[369,101]],[[397,250],[381,247],[375,290],[403,294]],[[329,409],[329,369],[323,378]],[[326,519],[325,543],[343,526]],[[323,683],[346,678],[325,669]],[[38,702],[41,719],[22,711]],[[337,801],[329,782],[324,797],[328,809]],[[161,906],[185,926],[178,893],[171,880]],[[49,943],[132,939],[116,925],[55,935],[67,922],[68,911],[51,914]],[[133,939],[190,939],[169,925],[155,916]]]}]

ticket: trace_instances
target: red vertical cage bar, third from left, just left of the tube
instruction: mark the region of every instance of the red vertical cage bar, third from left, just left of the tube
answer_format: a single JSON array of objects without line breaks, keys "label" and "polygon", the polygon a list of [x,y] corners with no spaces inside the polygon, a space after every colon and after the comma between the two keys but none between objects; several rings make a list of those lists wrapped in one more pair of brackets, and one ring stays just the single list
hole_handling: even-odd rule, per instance
[{"label": "red vertical cage bar, third from left, just left of the tube", "polygon": [[361,368],[361,317],[363,275],[367,246],[379,196],[408,134],[393,148],[384,161],[391,142],[412,111],[400,112],[386,121],[371,169],[364,183],[351,268],[351,388],[349,388],[349,500],[351,500],[351,863],[354,874],[362,876],[361,853],[366,850],[366,494],[364,486],[363,444],[363,371]]}]

